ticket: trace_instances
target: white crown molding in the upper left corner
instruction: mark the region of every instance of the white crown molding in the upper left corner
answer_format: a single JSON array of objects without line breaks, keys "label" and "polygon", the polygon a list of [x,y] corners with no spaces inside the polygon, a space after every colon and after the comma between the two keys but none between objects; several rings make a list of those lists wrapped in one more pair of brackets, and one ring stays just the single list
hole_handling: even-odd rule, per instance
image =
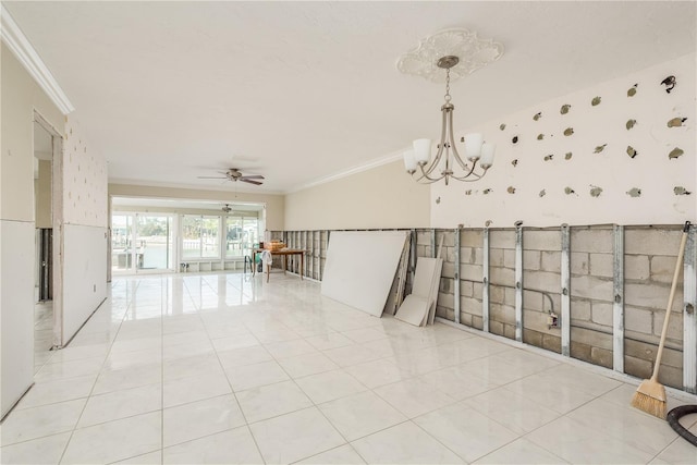
[{"label": "white crown molding in the upper left corner", "polygon": [[68,96],[56,81],[56,77],[53,77],[41,60],[41,57],[36,52],[32,42],[29,42],[24,33],[22,33],[22,29],[17,23],[14,22],[14,19],[5,9],[4,4],[0,12],[0,23],[2,41],[12,50],[12,53],[20,60],[20,63],[24,65],[29,75],[34,77],[63,114],[73,112],[75,107],[70,102]]}]

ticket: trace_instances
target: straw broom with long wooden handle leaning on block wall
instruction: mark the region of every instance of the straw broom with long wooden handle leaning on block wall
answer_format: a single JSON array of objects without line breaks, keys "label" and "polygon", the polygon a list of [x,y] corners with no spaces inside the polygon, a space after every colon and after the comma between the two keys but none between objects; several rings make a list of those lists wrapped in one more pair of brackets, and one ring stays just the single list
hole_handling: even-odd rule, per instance
[{"label": "straw broom with long wooden handle leaning on block wall", "polygon": [[689,231],[689,221],[685,222],[683,235],[680,242],[680,252],[677,253],[677,261],[675,262],[675,272],[673,273],[673,283],[671,284],[671,293],[668,297],[668,308],[665,309],[665,319],[663,320],[663,330],[661,331],[661,341],[658,344],[656,354],[656,364],[653,365],[653,374],[650,379],[645,379],[637,388],[632,397],[632,406],[640,411],[651,414],[661,419],[665,419],[665,388],[658,382],[658,370],[661,366],[661,355],[665,345],[665,334],[668,333],[668,321],[671,318],[671,308],[673,308],[673,297],[675,297],[675,287],[677,286],[677,276],[680,274],[680,266],[685,255],[685,243],[687,242],[687,231]]}]

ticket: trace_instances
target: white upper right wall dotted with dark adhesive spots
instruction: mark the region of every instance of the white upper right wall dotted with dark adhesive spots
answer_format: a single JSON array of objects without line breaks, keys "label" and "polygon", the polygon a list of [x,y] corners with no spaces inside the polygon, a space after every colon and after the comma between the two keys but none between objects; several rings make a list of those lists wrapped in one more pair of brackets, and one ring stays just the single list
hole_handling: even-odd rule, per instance
[{"label": "white upper right wall dotted with dark adhesive spots", "polygon": [[[669,94],[660,83],[670,75],[677,85]],[[635,84],[636,94],[629,97]],[[597,106],[591,105],[595,97],[600,97]],[[571,107],[562,114],[564,105]],[[492,227],[512,227],[516,220],[528,227],[695,221],[695,54],[689,54],[474,127],[472,132],[482,132],[497,144],[496,164],[477,183],[433,184],[431,225],[484,227],[487,220]],[[687,120],[669,127],[673,118]],[[636,120],[631,130],[628,120]],[[566,129],[573,134],[564,135]],[[512,143],[514,136],[517,144]],[[638,155],[631,158],[627,146]],[[684,154],[669,159],[675,148]],[[570,159],[566,154],[572,154]],[[597,197],[591,195],[596,187],[602,189]],[[675,187],[692,194],[676,195]],[[634,188],[640,196],[628,194]]]}]

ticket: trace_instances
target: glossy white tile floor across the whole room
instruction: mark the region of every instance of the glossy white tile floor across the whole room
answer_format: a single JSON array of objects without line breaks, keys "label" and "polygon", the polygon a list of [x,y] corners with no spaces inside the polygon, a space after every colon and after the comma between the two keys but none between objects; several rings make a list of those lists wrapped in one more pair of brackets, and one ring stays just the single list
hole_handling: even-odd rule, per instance
[{"label": "glossy white tile floor across the whole room", "polygon": [[1,462],[697,463],[628,405],[635,386],[319,289],[278,273],[114,279],[72,343],[37,357]]}]

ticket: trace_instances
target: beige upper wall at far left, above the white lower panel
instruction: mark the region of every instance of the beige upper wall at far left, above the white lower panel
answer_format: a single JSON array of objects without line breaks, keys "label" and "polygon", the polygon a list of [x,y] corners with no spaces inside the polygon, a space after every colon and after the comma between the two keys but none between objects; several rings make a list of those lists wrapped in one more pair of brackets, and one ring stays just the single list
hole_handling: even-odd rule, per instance
[{"label": "beige upper wall at far left, above the white lower panel", "polygon": [[63,133],[63,115],[2,44],[0,219],[34,221],[34,110]]}]

